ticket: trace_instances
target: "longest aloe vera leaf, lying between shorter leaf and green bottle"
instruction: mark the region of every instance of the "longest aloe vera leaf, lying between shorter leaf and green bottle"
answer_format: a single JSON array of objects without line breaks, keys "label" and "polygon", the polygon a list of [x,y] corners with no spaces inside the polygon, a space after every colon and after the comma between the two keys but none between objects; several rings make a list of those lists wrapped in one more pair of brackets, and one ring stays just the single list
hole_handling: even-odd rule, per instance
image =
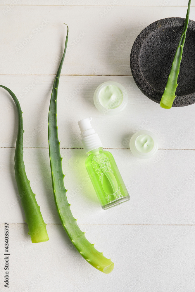
[{"label": "longest aloe vera leaf, lying between shorter leaf and green bottle", "polygon": [[61,63],[56,74],[54,86],[51,93],[50,107],[49,107],[49,119],[48,119],[48,136],[49,136],[49,156],[51,166],[51,178],[54,192],[54,200],[57,208],[57,212],[63,228],[67,233],[70,241],[75,246],[77,251],[82,257],[87,260],[96,269],[108,274],[114,268],[114,263],[110,259],[103,256],[102,253],[94,248],[94,244],[91,244],[85,237],[84,232],[80,230],[77,225],[77,220],[73,217],[70,204],[68,203],[64,186],[64,174],[62,170],[62,157],[60,154],[60,142],[58,140],[58,127],[57,127],[57,95],[58,84],[60,78],[60,72],[65,57],[66,47],[68,42],[68,26],[67,35],[65,41],[65,48]]}]

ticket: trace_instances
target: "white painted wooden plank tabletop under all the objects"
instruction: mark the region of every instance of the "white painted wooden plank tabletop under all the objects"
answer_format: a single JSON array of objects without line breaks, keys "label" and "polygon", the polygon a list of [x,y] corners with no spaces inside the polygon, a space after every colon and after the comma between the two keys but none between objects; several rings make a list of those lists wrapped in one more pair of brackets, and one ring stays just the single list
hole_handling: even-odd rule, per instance
[{"label": "white painted wooden plank tabletop under all the objects", "polygon": [[[185,17],[187,2],[1,0],[0,83],[20,100],[25,168],[50,240],[32,244],[27,235],[14,174],[18,117],[1,88],[0,291],[7,291],[4,222],[10,229],[10,292],[195,291],[195,105],[162,109],[137,88],[129,62],[139,32],[161,18]],[[190,19],[195,20],[193,0]],[[70,244],[54,204],[47,118],[65,42],[63,22],[69,26],[58,90],[64,182],[81,230],[115,263],[107,275]],[[127,37],[130,41],[122,48]],[[127,88],[129,103],[118,116],[104,116],[93,104],[96,87],[105,81]],[[77,121],[86,117],[93,118],[104,148],[113,153],[131,196],[108,211],[101,209],[84,166]],[[131,135],[141,129],[159,139],[157,155],[149,160],[133,157],[129,150]]]}]

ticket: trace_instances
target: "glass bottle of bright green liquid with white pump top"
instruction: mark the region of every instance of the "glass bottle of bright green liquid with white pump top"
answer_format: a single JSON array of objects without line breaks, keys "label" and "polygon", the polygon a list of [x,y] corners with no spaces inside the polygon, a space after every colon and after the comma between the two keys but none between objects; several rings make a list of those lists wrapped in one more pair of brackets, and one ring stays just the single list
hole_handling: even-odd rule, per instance
[{"label": "glass bottle of bright green liquid with white pump top", "polygon": [[130,199],[113,155],[103,150],[98,134],[91,126],[92,118],[78,122],[82,144],[88,157],[85,166],[101,203],[106,210]]}]

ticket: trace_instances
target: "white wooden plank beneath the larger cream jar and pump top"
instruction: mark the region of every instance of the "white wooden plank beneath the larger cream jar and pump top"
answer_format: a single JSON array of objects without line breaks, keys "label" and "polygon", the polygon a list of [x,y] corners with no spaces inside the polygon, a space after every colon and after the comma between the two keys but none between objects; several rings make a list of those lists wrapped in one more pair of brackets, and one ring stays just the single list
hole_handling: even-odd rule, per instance
[{"label": "white wooden plank beneath the larger cream jar and pump top", "polygon": [[[53,81],[54,76],[1,76],[1,84],[8,86],[20,99],[24,147],[48,147],[47,119]],[[103,115],[94,106],[94,91],[105,81],[116,81],[127,88],[129,103],[117,116]],[[15,147],[16,109],[3,88],[0,88],[0,95],[0,147]],[[159,148],[195,149],[194,111],[195,105],[162,109],[141,93],[132,77],[60,77],[58,133],[62,148],[82,148],[77,121],[92,117],[92,125],[105,148],[128,148],[131,135],[144,129],[156,134]]]}]

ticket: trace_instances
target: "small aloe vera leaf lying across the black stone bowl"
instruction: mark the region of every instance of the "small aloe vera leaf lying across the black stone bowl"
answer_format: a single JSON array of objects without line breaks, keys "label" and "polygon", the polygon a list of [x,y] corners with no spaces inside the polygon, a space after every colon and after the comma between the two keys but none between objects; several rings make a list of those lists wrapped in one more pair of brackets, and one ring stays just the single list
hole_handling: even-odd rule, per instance
[{"label": "small aloe vera leaf lying across the black stone bowl", "polygon": [[175,57],[172,62],[171,71],[168,77],[167,85],[165,87],[165,91],[163,93],[163,96],[160,102],[160,106],[165,109],[170,109],[172,107],[173,101],[176,97],[175,91],[178,86],[177,78],[180,73],[180,63],[182,60],[184,43],[186,39],[186,32],[187,32],[188,23],[189,23],[190,4],[191,4],[191,0],[189,0],[188,2],[188,9],[187,9],[187,14],[186,14],[186,19],[184,22],[182,36],[180,38],[179,45],[177,46],[177,51],[175,53]]}]

